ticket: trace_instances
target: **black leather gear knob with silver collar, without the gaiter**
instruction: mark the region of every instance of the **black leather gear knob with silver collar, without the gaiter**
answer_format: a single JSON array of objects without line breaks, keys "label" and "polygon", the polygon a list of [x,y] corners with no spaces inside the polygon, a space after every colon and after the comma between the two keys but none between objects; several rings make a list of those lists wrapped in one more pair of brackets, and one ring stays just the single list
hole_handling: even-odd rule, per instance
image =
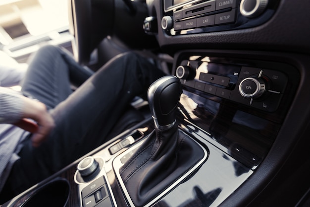
[{"label": "black leather gear knob with silver collar, without the gaiter", "polygon": [[163,76],[149,87],[148,100],[157,129],[169,129],[174,125],[181,94],[180,80],[173,75]]}]

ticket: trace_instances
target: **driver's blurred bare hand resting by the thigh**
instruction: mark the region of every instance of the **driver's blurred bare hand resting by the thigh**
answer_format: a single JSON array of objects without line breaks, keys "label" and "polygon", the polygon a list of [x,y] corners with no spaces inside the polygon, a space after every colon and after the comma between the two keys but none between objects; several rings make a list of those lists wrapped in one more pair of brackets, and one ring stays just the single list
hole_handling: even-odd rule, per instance
[{"label": "driver's blurred bare hand resting by the thigh", "polygon": [[31,137],[32,145],[37,147],[47,138],[54,128],[54,120],[48,113],[45,104],[24,96],[22,99],[24,101],[23,116],[14,125],[33,133]]}]

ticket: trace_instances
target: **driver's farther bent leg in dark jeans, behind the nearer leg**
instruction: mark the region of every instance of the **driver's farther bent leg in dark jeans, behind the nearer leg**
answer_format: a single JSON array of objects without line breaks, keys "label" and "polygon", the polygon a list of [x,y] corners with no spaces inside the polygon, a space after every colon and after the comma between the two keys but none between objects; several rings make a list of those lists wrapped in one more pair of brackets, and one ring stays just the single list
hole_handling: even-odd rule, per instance
[{"label": "driver's farther bent leg in dark jeans, behind the nearer leg", "polygon": [[22,82],[22,92],[51,109],[72,93],[71,82],[81,85],[92,74],[64,50],[44,46],[31,59]]}]

